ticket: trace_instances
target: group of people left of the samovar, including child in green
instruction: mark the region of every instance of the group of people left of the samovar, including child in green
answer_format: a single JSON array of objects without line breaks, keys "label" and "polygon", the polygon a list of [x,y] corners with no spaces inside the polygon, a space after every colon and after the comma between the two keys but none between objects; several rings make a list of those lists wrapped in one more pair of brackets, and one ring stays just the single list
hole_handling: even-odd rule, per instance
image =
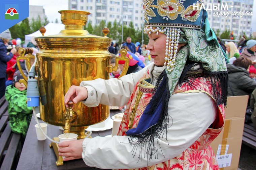
[{"label": "group of people left of the samovar, including child in green", "polygon": [[[27,88],[18,69],[16,58],[20,56],[15,41],[10,42],[11,33],[6,30],[0,34],[0,98],[8,101],[9,125],[14,133],[22,134],[25,140],[32,117],[32,107],[27,106]],[[27,76],[25,61],[20,61],[23,73]]]}]

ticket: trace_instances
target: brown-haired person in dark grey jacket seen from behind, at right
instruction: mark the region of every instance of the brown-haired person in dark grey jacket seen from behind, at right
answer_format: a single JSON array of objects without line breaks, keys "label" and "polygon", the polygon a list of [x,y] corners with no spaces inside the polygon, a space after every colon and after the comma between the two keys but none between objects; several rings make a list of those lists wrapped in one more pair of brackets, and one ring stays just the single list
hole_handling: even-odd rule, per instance
[{"label": "brown-haired person in dark grey jacket seen from behind, at right", "polygon": [[233,64],[227,64],[228,70],[228,96],[250,96],[256,88],[256,81],[249,77],[247,71],[252,61],[248,58],[239,57]]}]

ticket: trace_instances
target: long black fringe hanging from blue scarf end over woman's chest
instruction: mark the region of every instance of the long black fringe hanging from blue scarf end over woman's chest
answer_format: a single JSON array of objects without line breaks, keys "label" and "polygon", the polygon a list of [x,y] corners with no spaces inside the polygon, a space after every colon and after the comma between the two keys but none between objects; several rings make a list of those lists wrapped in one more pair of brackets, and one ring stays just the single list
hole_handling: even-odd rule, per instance
[{"label": "long black fringe hanging from blue scarf end over woman's chest", "polygon": [[[146,131],[137,135],[130,135],[129,143],[133,146],[133,155],[139,152],[139,160],[142,156],[142,148],[145,148],[144,157],[147,155],[147,160],[151,160],[155,155],[155,159],[158,159],[157,151],[161,149],[159,140],[163,137],[163,134],[167,134],[169,115],[168,115],[168,103],[170,99],[170,91],[168,87],[168,77],[165,70],[157,78],[157,83],[154,88],[153,97],[147,105],[147,109],[143,114],[152,115],[156,109],[160,109],[160,118],[156,125],[149,127]],[[160,103],[162,107],[159,108]],[[156,138],[157,144],[154,139]],[[133,156],[133,157],[134,157]],[[138,160],[138,161],[139,161]]]}]

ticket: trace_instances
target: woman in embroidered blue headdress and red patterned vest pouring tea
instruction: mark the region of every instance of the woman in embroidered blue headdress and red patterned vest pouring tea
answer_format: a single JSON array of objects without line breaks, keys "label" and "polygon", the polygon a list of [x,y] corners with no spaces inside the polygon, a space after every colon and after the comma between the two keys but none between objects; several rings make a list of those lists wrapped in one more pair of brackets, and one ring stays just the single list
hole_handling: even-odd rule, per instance
[{"label": "woman in embroidered blue headdress and red patterned vest pouring tea", "polygon": [[228,75],[207,12],[197,0],[142,4],[154,63],[119,79],[82,81],[64,99],[127,105],[118,134],[63,142],[59,155],[103,169],[219,169],[210,143],[224,125]]}]

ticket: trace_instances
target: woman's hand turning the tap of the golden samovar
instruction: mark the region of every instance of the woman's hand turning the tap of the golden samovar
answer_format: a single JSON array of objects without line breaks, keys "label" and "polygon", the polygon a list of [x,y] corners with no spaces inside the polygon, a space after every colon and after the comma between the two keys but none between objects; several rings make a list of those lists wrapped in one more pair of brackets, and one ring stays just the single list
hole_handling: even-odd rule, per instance
[{"label": "woman's hand turning the tap of the golden samovar", "polygon": [[74,104],[86,100],[88,97],[88,91],[85,87],[82,86],[71,86],[68,89],[68,92],[64,96],[64,103],[66,107],[68,107],[67,103],[68,101],[73,101]]}]

